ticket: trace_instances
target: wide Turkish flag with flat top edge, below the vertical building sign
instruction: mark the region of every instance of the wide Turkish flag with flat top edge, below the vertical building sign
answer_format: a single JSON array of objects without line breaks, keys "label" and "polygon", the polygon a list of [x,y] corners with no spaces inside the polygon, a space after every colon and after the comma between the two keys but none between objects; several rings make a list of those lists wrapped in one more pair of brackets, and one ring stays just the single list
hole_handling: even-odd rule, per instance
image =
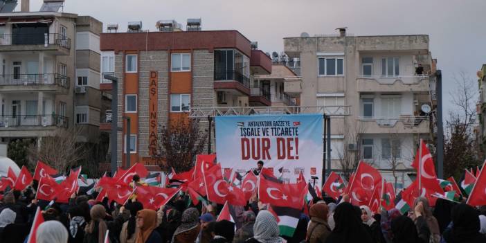
[{"label": "wide Turkish flag with flat top edge, below the vertical building sign", "polygon": [[156,186],[137,186],[136,199],[143,204],[143,208],[158,210],[179,192],[181,188],[159,188]]}]

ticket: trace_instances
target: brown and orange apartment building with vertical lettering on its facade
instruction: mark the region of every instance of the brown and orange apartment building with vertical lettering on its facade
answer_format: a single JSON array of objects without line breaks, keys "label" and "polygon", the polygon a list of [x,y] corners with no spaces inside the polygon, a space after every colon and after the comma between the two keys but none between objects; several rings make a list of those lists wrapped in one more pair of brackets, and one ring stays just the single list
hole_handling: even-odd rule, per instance
[{"label": "brown and orange apartment building with vertical lettering on its facade", "polygon": [[[259,102],[260,91],[252,96],[254,75],[271,73],[271,59],[237,30],[201,30],[201,19],[188,19],[185,31],[173,20],[156,26],[159,31],[149,32],[129,22],[127,33],[115,25],[114,33],[100,35],[102,74],[118,78],[119,165],[125,165],[127,139],[131,163],[157,165],[152,155],[160,125],[188,118],[189,109]],[[113,85],[102,79],[101,88]],[[123,117],[131,121],[129,138]],[[207,129],[208,120],[199,124]]]}]

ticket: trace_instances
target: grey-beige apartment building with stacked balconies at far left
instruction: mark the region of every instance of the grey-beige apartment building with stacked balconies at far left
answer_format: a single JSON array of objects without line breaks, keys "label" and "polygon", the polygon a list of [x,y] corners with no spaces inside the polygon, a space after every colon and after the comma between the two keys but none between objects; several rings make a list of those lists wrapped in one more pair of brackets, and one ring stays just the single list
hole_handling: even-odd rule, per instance
[{"label": "grey-beige apartment building with stacked balconies at far left", "polygon": [[0,1],[0,138],[55,136],[80,128],[97,143],[100,113],[100,21],[60,12],[63,1]]}]

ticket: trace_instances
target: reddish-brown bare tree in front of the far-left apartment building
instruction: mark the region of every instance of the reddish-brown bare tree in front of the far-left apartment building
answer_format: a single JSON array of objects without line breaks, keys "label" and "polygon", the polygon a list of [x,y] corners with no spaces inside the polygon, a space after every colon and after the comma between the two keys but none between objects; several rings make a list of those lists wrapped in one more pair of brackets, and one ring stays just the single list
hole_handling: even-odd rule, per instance
[{"label": "reddish-brown bare tree in front of the far-left apartment building", "polygon": [[37,145],[28,148],[30,163],[35,166],[37,160],[40,160],[59,172],[65,172],[68,168],[79,165],[86,160],[89,152],[82,143],[76,141],[80,132],[78,127],[70,127],[57,129],[53,137],[39,138]]}]

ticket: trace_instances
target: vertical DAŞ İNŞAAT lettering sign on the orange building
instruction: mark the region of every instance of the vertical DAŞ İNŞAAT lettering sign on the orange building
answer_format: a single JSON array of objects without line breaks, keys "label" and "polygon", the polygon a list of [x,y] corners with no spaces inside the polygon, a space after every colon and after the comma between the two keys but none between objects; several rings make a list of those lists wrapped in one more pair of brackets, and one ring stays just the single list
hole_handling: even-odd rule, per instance
[{"label": "vertical DA\u015e \u0130N\u015eAAT lettering sign on the orange building", "polygon": [[149,84],[149,155],[157,154],[157,80],[156,71],[150,71]]}]

